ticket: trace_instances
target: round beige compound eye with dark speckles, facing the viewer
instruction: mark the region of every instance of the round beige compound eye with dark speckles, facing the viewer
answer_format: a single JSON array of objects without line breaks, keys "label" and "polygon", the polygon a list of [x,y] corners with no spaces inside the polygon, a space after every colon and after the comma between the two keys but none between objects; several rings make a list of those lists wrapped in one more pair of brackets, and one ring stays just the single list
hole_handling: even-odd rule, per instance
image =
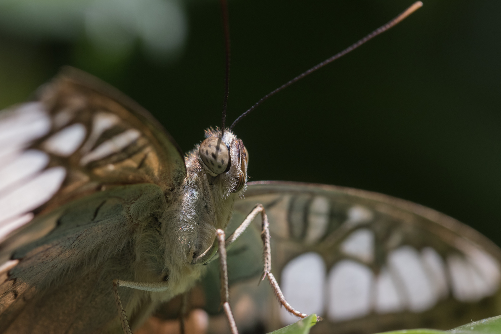
[{"label": "round beige compound eye with dark speckles, facing the viewer", "polygon": [[200,144],[198,155],[212,173],[222,174],[230,166],[228,148],[220,138],[209,137],[205,139]]}]

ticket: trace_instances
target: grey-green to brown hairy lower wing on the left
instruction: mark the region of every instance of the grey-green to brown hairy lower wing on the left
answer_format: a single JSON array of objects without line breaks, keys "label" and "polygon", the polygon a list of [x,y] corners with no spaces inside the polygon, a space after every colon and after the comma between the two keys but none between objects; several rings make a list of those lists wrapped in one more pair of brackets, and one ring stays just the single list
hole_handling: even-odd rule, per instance
[{"label": "grey-green to brown hairy lower wing on the left", "polygon": [[[0,332],[120,332],[112,281],[136,279],[131,240],[165,205],[157,185],[118,186],[12,235],[3,250],[19,263],[0,274]],[[134,325],[150,299],[138,290],[123,291],[122,299]]]}]

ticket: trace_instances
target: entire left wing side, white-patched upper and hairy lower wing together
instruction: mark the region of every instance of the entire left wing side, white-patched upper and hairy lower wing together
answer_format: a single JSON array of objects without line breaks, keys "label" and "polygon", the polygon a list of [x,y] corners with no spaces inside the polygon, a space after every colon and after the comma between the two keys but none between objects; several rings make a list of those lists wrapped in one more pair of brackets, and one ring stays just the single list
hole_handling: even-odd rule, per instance
[{"label": "entire left wing side, white-patched upper and hairy lower wing together", "polygon": [[0,331],[113,326],[111,281],[134,278],[131,236],[185,175],[148,112],[76,69],[0,113]]}]

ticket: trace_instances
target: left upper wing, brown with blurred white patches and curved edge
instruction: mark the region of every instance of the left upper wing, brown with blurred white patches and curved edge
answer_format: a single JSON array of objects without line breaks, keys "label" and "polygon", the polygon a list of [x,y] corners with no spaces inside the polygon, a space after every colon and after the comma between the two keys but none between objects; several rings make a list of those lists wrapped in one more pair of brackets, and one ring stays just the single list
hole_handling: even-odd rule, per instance
[{"label": "left upper wing, brown with blurred white patches and curved edge", "polygon": [[185,175],[181,150],[146,110],[66,68],[36,101],[0,112],[0,265],[11,255],[2,241],[33,218],[118,185],[169,196]]}]

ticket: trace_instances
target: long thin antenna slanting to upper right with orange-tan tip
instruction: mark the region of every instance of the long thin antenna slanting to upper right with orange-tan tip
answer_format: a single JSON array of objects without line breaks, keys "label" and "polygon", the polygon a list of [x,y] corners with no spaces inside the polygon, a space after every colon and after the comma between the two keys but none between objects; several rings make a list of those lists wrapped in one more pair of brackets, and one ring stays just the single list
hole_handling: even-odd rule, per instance
[{"label": "long thin antenna slanting to upper right with orange-tan tip", "polygon": [[373,31],[372,33],[370,33],[369,35],[367,35],[363,39],[361,39],[358,42],[352,44],[351,46],[349,46],[348,48],[344,49],[340,53],[332,56],[331,58],[328,58],[328,59],[324,60],[322,63],[315,65],[314,67],[312,67],[311,69],[309,69],[306,72],[303,72],[302,74],[300,74],[296,78],[294,78],[292,80],[289,80],[287,83],[285,83],[284,85],[280,86],[279,88],[277,88],[276,90],[272,91],[271,93],[268,93],[263,98],[261,98],[261,100],[259,100],[258,102],[256,102],[256,104],[254,104],[254,106],[250,107],[249,109],[247,109],[246,112],[244,112],[243,114],[241,114],[240,116],[238,116],[238,118],[229,127],[229,130],[231,131],[233,129],[233,127],[236,125],[236,123],[238,123],[242,118],[244,118],[245,116],[247,116],[250,112],[252,112],[258,106],[260,106],[263,102],[265,102],[266,100],[268,100],[270,97],[274,96],[275,94],[277,94],[278,92],[284,90],[285,88],[291,86],[295,82],[303,79],[304,77],[306,77],[307,75],[311,74],[312,72],[317,71],[318,69],[326,66],[327,64],[332,63],[336,59],[341,58],[342,56],[346,55],[347,53],[355,50],[356,48],[358,48],[362,44],[370,41],[371,39],[373,39],[374,37],[378,36],[379,34],[384,33],[385,31],[387,31],[391,27],[393,27],[396,24],[400,23],[402,20],[404,20],[405,18],[407,18],[409,15],[411,15],[412,13],[414,13],[416,10],[418,10],[422,6],[423,6],[422,2],[420,2],[420,1],[415,2],[414,4],[412,4],[412,6],[410,6],[409,8],[407,8],[404,12],[402,12],[395,19],[393,19],[390,22],[388,22],[387,24],[379,27],[378,29],[376,29],[375,31]]}]

